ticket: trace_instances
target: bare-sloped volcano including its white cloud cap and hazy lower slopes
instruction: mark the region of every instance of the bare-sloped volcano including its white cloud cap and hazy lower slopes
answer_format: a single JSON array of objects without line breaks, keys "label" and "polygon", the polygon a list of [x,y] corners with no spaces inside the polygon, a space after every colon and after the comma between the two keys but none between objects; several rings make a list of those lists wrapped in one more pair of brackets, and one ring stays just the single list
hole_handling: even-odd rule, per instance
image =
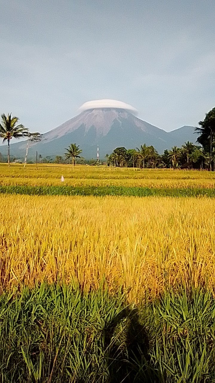
[{"label": "bare-sloped volcano including its white cloud cap and hazy lower slopes", "polygon": [[[97,146],[100,158],[110,154],[116,147],[133,149],[144,143],[153,145],[162,153],[174,145],[181,146],[186,141],[195,142],[197,138],[192,126],[166,132],[137,118],[137,111],[120,101],[90,101],[83,104],[80,111],[77,116],[43,134],[42,141],[29,148],[29,158],[36,150],[43,157],[63,155],[71,143],[80,146],[86,159],[96,158]],[[11,144],[11,155],[22,158],[25,148],[24,141]],[[0,149],[2,154],[6,154],[6,150],[5,146]]]}]

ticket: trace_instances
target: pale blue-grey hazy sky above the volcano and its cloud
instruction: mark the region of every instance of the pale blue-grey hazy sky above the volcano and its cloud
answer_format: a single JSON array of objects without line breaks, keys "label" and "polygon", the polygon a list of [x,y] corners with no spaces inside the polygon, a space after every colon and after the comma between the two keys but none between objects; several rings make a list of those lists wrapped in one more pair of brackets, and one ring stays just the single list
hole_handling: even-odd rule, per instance
[{"label": "pale blue-grey hazy sky above the volcano and its cloud", "polygon": [[214,0],[0,0],[0,112],[42,133],[110,98],[167,131],[215,106]]}]

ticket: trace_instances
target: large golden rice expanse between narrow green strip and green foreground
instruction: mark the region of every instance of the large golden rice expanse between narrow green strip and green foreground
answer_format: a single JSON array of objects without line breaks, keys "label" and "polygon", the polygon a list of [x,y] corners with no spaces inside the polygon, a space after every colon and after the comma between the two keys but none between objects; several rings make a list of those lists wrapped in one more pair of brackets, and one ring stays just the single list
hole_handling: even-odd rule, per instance
[{"label": "large golden rice expanse between narrow green strip and green foreground", "polygon": [[215,286],[215,202],[207,198],[0,196],[0,288],[37,280],[110,291]]}]

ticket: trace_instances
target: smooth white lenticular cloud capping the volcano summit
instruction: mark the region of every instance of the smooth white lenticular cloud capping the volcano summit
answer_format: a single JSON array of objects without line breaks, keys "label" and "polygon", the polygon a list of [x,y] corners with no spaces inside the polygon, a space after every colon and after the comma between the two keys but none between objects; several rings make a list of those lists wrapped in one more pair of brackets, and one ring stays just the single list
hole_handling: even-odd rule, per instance
[{"label": "smooth white lenticular cloud capping the volcano summit", "polygon": [[137,109],[133,108],[133,106],[129,104],[125,104],[122,101],[116,101],[116,100],[94,100],[94,101],[88,101],[85,102],[81,107],[79,108],[80,112],[83,112],[85,110],[89,109],[96,109],[96,108],[117,108],[117,109],[125,109],[128,112],[132,113],[133,115],[137,115]]}]

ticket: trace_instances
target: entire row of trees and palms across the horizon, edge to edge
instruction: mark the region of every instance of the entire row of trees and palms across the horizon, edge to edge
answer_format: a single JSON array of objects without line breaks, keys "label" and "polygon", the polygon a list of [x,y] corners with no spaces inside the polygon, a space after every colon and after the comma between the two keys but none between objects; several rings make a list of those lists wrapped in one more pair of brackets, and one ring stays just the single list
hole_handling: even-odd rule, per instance
[{"label": "entire row of trees and palms across the horizon, edge to edge", "polygon": [[[2,123],[0,124],[0,137],[3,142],[8,144],[8,164],[10,164],[10,141],[12,138],[19,139],[27,137],[26,157],[27,162],[28,148],[31,143],[41,140],[42,134],[39,132],[30,133],[28,128],[23,124],[17,124],[18,118],[1,115]],[[125,147],[117,147],[109,155],[106,154],[104,161],[108,166],[116,167],[138,167],[145,168],[181,168],[181,169],[205,169],[215,171],[215,108],[210,110],[205,119],[199,121],[199,126],[195,129],[198,134],[197,145],[192,142],[185,142],[180,148],[172,147],[171,150],[165,150],[163,154],[158,154],[153,146],[146,144],[140,145],[139,148],[126,149]],[[200,145],[198,145],[200,144]],[[55,162],[55,163],[72,163],[75,166],[76,159],[80,159],[82,163],[96,165],[98,162],[94,159],[86,161],[80,156],[82,150],[79,145],[71,143],[68,148],[65,148],[65,160],[61,155],[57,155],[53,161],[51,157],[42,158],[39,154],[39,162]],[[37,156],[36,156],[37,158]],[[37,160],[36,160],[37,162]]]}]

